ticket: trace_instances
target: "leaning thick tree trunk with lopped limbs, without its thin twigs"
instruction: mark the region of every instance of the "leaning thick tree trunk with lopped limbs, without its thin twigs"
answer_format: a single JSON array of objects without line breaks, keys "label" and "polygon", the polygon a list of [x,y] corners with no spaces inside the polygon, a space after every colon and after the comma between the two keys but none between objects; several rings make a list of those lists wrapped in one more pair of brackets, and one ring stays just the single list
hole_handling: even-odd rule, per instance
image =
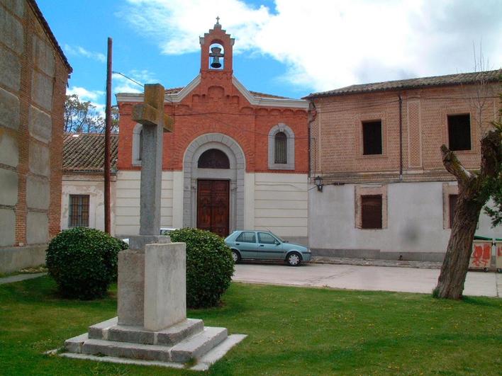
[{"label": "leaning thick tree trunk with lopped limbs, without its thin twigs", "polygon": [[[479,119],[481,121],[482,117],[479,116]],[[445,260],[434,290],[435,297],[449,299],[462,297],[479,213],[491,195],[499,208],[498,213],[494,211],[494,214],[498,214],[498,218],[501,215],[502,127],[500,123],[492,124],[494,127],[481,138],[480,171],[467,171],[454,152],[445,144],[441,146],[442,163],[445,169],[457,178],[459,193],[450,241],[448,241]]]}]

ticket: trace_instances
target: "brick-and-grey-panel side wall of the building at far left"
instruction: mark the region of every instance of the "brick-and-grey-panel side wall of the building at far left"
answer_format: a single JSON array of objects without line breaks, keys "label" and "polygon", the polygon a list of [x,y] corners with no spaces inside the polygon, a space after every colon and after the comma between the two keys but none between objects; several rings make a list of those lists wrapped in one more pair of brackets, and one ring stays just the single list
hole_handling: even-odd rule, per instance
[{"label": "brick-and-grey-panel side wall of the building at far left", "polygon": [[0,0],[0,272],[43,263],[60,231],[69,72],[35,2]]}]

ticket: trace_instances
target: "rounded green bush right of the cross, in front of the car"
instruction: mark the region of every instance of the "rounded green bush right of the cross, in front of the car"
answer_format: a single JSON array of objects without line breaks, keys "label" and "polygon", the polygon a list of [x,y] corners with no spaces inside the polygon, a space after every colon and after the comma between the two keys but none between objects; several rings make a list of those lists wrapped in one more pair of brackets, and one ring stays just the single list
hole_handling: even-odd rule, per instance
[{"label": "rounded green bush right of the cross, in front of the car", "polygon": [[232,280],[230,248],[218,235],[200,229],[174,230],[169,237],[186,243],[186,305],[216,306]]}]

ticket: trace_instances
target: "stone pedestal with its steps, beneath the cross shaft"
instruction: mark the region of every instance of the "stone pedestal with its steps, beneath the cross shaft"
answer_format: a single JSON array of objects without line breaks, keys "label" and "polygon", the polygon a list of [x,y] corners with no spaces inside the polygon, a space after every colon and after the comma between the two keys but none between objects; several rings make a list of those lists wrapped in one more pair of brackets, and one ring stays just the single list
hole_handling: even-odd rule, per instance
[{"label": "stone pedestal with its steps, beneath the cross shaft", "polygon": [[[158,242],[148,244],[150,241]],[[129,358],[132,363],[168,366],[206,357],[201,363],[207,365],[242,341],[245,336],[228,336],[225,328],[186,319],[184,243],[171,243],[169,237],[139,236],[130,237],[129,244],[131,249],[118,253],[118,317],[68,339],[68,356],[106,355],[99,360]]]}]

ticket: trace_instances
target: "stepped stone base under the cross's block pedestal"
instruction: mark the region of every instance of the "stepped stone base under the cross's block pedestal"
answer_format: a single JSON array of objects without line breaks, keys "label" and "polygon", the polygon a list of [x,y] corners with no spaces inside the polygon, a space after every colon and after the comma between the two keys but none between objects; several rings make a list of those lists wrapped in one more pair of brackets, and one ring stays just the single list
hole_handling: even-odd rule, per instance
[{"label": "stepped stone base under the cross's block pedestal", "polygon": [[69,353],[113,358],[186,363],[200,359],[228,338],[225,328],[204,327],[186,319],[162,331],[116,324],[116,318],[89,327],[89,333],[69,338]]}]

